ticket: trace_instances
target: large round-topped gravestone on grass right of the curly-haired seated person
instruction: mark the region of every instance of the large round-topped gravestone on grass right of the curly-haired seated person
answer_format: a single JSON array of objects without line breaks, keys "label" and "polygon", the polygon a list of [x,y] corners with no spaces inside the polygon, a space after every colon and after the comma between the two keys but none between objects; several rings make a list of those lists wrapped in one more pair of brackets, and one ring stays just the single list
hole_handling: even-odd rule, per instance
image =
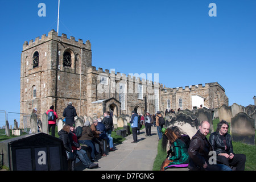
[{"label": "large round-topped gravestone on grass right of the curly-haired seated person", "polygon": [[230,133],[233,141],[255,145],[254,119],[246,113],[238,113],[231,119]]}]

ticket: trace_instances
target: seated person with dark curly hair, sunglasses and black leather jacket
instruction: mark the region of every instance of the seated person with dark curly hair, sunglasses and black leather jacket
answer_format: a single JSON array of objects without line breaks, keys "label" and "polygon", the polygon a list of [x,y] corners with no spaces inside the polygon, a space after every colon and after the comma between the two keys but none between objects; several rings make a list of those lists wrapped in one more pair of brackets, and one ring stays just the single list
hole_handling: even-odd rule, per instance
[{"label": "seated person with dark curly hair, sunglasses and black leather jacket", "polygon": [[244,154],[234,154],[232,138],[228,134],[229,123],[222,120],[217,125],[216,132],[210,134],[209,142],[217,154],[217,162],[226,166],[236,167],[236,171],[245,170],[246,156]]}]

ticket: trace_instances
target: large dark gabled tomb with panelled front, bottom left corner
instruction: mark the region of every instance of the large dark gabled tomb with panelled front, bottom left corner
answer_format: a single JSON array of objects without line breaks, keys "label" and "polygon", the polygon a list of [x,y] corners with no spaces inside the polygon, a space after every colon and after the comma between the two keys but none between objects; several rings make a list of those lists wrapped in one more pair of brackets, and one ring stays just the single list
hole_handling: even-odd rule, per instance
[{"label": "large dark gabled tomb with panelled front, bottom left corner", "polygon": [[3,165],[11,171],[63,170],[62,142],[45,133],[27,134],[0,142]]}]

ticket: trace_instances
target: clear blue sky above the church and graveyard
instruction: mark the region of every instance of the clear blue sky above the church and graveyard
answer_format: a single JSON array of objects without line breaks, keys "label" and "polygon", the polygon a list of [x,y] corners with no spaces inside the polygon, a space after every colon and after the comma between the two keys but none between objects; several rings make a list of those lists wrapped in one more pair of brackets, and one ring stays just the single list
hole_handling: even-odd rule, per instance
[{"label": "clear blue sky above the church and graveyard", "polygon": [[[58,0],[0,2],[0,110],[19,112],[22,44],[57,31]],[[255,0],[60,0],[63,33],[90,40],[97,69],[159,73],[170,88],[217,81],[229,105],[254,104]]]}]

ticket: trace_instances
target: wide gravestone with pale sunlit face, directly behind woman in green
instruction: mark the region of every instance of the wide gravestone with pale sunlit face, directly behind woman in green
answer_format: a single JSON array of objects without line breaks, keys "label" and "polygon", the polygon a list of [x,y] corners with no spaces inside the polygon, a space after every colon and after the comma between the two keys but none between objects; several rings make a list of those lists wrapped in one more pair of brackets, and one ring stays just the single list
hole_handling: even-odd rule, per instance
[{"label": "wide gravestone with pale sunlit face, directly behind woman in green", "polygon": [[166,122],[166,127],[177,126],[182,129],[190,138],[196,134],[199,130],[199,119],[193,119],[190,115],[186,115],[182,112],[177,113],[174,117],[171,117],[171,121]]}]

